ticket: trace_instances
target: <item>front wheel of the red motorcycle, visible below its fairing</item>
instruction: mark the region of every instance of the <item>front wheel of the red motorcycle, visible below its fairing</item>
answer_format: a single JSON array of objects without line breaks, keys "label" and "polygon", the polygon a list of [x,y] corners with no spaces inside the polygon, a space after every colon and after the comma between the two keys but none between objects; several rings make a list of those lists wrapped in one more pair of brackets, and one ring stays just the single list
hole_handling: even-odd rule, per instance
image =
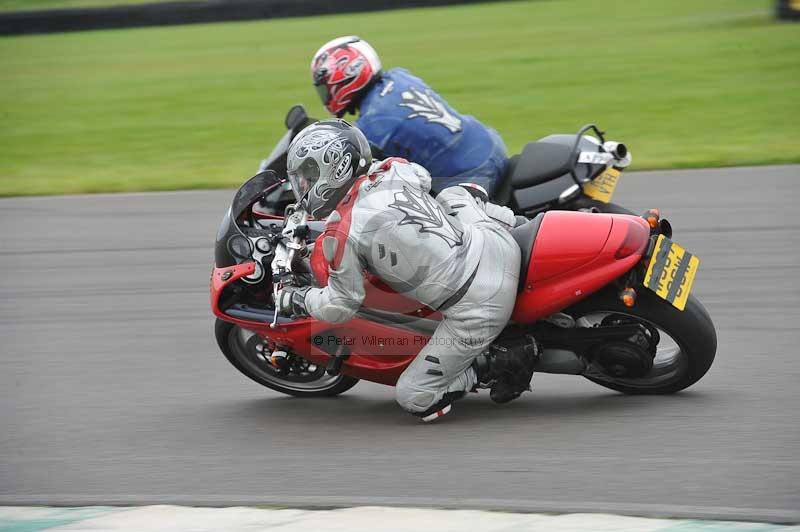
[{"label": "front wheel of the red motorcycle, visible below its fairing", "polygon": [[295,397],[332,397],[346,392],[358,379],[328,375],[324,366],[293,356],[289,370],[276,369],[267,359],[264,341],[252,331],[216,320],[214,335],[228,362],[255,382]]}]

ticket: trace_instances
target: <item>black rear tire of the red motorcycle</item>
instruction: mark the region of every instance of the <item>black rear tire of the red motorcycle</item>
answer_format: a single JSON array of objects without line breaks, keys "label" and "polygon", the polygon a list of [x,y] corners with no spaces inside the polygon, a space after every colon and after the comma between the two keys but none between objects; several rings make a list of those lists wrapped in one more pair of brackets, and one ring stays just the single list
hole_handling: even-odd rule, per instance
[{"label": "black rear tire of the red motorcycle", "polygon": [[686,308],[680,311],[645,288],[637,292],[636,304],[631,308],[619,300],[616,291],[604,290],[567,312],[576,320],[607,312],[649,322],[659,329],[661,342],[665,342],[666,333],[677,345],[679,351],[674,355],[674,366],[656,365],[639,379],[618,379],[602,372],[585,377],[600,386],[626,394],[669,394],[688,388],[699,381],[714,362],[717,333],[711,317],[694,296],[689,296]]}]

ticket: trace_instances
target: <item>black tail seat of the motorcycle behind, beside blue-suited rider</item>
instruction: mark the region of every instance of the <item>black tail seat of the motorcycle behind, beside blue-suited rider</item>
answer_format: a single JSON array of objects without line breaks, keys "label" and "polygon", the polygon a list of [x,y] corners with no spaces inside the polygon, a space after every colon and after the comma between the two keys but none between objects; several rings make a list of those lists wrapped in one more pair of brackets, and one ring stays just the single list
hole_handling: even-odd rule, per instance
[{"label": "black tail seat of the motorcycle behind, beside blue-suited rider", "polygon": [[511,186],[528,188],[568,173],[577,158],[571,146],[539,140],[529,142],[511,172]]}]

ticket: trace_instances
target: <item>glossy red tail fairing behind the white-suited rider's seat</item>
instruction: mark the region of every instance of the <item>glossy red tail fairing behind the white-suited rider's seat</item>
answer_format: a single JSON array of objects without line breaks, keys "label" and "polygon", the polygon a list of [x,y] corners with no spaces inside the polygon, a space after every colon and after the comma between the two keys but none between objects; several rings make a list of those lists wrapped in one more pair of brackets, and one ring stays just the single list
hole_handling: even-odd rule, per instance
[{"label": "glossy red tail fairing behind the white-suited rider's seat", "polygon": [[546,213],[511,318],[533,322],[591,295],[633,268],[649,236],[637,216]]}]

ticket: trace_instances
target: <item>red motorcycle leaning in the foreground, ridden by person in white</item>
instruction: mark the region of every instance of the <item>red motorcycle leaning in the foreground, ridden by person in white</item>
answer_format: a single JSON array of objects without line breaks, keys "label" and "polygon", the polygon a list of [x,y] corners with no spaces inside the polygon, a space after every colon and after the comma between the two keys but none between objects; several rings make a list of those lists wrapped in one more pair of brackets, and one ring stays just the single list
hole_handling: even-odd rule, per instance
[{"label": "red motorcycle leaning in the foreground, ridden by person in white", "polygon": [[[441,315],[367,275],[364,304],[346,323],[279,317],[282,283],[324,273],[303,267],[315,262],[307,243],[324,222],[253,209],[281,186],[272,171],[251,178],[220,225],[211,272],[220,349],[252,380],[290,395],[337,395],[359,379],[394,385]],[[633,394],[677,392],[711,367],[716,332],[690,293],[699,259],[672,242],[657,211],[549,211],[512,233],[523,257],[519,295],[495,344],[524,348],[533,335],[536,371]]]}]

